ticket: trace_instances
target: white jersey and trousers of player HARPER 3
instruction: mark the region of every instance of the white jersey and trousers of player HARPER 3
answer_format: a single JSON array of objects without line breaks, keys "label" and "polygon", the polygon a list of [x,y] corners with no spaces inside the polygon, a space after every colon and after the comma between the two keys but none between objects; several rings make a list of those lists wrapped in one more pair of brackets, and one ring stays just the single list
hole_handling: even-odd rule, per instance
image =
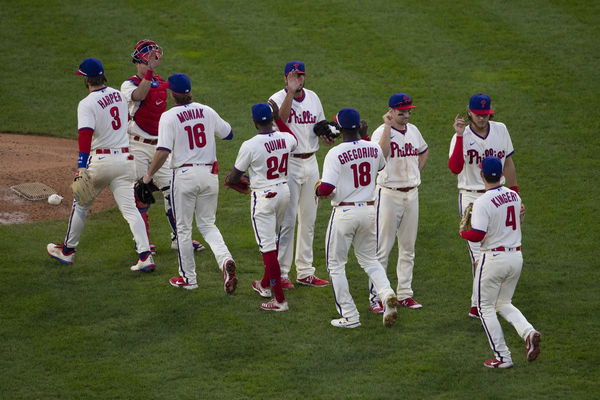
[{"label": "white jersey and trousers of player HARPER 3", "polygon": [[[136,242],[137,251],[150,250],[144,221],[135,207],[133,183],[134,157],[127,140],[127,102],[116,89],[105,87],[91,92],[79,102],[77,126],[92,129],[91,152],[87,170],[92,177],[96,196],[108,187]],[[73,202],[65,238],[67,247],[77,247],[91,205]]]}]

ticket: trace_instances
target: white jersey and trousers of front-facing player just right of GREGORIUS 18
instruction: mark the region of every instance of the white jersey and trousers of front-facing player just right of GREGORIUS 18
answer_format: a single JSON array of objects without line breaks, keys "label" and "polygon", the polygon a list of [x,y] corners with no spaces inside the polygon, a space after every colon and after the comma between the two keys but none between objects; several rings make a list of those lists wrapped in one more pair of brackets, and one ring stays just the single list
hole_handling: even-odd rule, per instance
[{"label": "white jersey and trousers of front-facing player just right of GREGORIUS 18", "polygon": [[[382,124],[373,132],[373,142],[379,142],[384,127]],[[390,152],[385,168],[377,177],[377,259],[387,269],[394,239],[398,241],[396,294],[399,300],[413,296],[412,277],[419,226],[418,186],[421,184],[419,155],[427,149],[427,143],[415,125],[407,124],[405,132],[392,127]],[[371,303],[380,301],[372,282],[369,282],[369,290]]]}]

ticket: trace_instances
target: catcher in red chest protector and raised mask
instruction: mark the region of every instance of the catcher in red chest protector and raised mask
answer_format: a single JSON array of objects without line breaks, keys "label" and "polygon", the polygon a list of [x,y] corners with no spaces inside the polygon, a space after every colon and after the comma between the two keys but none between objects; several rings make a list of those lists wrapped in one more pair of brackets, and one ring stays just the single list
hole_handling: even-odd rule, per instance
[{"label": "catcher in red chest protector and raised mask", "polygon": [[[168,84],[154,71],[158,68],[162,58],[162,49],[156,42],[144,39],[137,42],[131,54],[132,62],[136,67],[136,74],[121,85],[121,92],[129,104],[129,142],[132,154],[135,156],[137,177],[140,178],[148,169],[156,151],[158,142],[158,122],[162,113],[167,109]],[[165,213],[171,226],[171,248],[177,248],[177,227],[170,203],[171,170],[165,165],[156,172],[154,182],[161,190],[165,201]],[[150,225],[148,222],[149,204],[136,199],[139,212],[144,218],[148,237]],[[198,241],[192,240],[194,250],[201,251],[205,247]],[[156,246],[150,244],[152,252]]]}]

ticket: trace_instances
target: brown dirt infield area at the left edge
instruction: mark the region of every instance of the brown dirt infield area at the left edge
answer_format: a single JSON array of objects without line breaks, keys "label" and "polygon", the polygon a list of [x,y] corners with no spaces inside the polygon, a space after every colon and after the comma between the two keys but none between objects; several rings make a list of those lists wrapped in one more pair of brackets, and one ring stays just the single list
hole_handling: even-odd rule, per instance
[{"label": "brown dirt infield area at the left edge", "polygon": [[[0,224],[68,219],[78,152],[76,140],[0,133]],[[64,197],[62,203],[53,206],[46,200],[30,201],[10,189],[27,182],[50,186]],[[92,212],[114,206],[112,193],[105,189]]]}]

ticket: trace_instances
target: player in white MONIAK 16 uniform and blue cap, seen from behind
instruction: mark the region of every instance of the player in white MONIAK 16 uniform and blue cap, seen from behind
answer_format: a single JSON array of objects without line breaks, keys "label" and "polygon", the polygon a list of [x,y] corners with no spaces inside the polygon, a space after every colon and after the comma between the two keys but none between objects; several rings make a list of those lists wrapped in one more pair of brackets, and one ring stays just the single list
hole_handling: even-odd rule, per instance
[{"label": "player in white MONIAK 16 uniform and blue cap, seen from behind", "polygon": [[225,292],[231,294],[237,285],[236,265],[215,226],[219,177],[214,165],[217,162],[215,139],[230,140],[233,131],[215,110],[192,101],[192,84],[187,75],[171,75],[168,85],[176,106],[160,118],[158,147],[143,180],[149,183],[171,155],[171,205],[177,223],[180,276],[169,282],[184,289],[198,288],[191,244],[195,214],[198,230],[221,269]]}]

